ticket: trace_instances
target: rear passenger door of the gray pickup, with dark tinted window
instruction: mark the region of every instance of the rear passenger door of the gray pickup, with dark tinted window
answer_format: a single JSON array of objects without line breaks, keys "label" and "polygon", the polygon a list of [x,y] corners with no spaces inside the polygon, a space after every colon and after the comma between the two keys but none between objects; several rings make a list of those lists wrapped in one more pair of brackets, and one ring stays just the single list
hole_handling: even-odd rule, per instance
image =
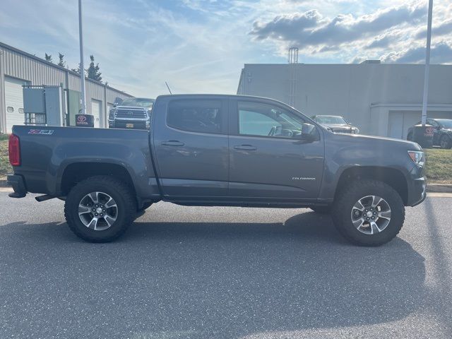
[{"label": "rear passenger door of the gray pickup, with dark tinted window", "polygon": [[155,162],[165,196],[227,196],[229,148],[225,97],[163,97],[153,114]]}]

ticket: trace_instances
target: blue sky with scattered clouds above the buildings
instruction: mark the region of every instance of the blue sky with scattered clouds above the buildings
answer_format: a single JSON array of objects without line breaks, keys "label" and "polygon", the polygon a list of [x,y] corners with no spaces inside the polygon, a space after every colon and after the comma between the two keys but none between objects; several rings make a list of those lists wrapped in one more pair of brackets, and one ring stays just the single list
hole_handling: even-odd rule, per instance
[{"label": "blue sky with scattered clouds above the buildings", "polygon": [[[79,62],[78,1],[0,0],[0,41]],[[428,0],[83,0],[85,68],[141,97],[237,91],[244,64],[423,63]],[[434,0],[432,63],[452,64],[452,1]]]}]

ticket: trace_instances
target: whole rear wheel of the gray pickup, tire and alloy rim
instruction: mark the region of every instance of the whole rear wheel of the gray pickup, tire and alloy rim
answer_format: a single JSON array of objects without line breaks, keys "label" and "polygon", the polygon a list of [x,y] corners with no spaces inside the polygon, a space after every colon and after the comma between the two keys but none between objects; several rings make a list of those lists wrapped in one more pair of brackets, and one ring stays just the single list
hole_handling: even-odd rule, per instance
[{"label": "whole rear wheel of the gray pickup, tire and alloy rim", "polygon": [[69,228],[87,242],[111,242],[133,222],[136,201],[118,179],[96,176],[79,182],[69,192],[64,215]]}]

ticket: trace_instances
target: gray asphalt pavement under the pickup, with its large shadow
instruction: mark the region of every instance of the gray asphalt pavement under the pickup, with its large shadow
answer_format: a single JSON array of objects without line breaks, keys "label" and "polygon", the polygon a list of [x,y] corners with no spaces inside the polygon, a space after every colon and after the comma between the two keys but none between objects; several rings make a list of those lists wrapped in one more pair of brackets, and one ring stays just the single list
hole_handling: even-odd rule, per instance
[{"label": "gray asphalt pavement under the pickup, with its large shadow", "polygon": [[451,338],[452,198],[377,248],[308,209],[151,206],[88,244],[0,190],[0,338]]}]

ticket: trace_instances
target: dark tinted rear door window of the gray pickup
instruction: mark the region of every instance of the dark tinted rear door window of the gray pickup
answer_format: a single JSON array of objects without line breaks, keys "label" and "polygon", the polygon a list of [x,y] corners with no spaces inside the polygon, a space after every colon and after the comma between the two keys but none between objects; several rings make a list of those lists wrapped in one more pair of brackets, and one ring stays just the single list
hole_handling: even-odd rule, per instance
[{"label": "dark tinted rear door window of the gray pickup", "polygon": [[169,102],[167,125],[182,131],[221,133],[220,100],[174,100]]}]

